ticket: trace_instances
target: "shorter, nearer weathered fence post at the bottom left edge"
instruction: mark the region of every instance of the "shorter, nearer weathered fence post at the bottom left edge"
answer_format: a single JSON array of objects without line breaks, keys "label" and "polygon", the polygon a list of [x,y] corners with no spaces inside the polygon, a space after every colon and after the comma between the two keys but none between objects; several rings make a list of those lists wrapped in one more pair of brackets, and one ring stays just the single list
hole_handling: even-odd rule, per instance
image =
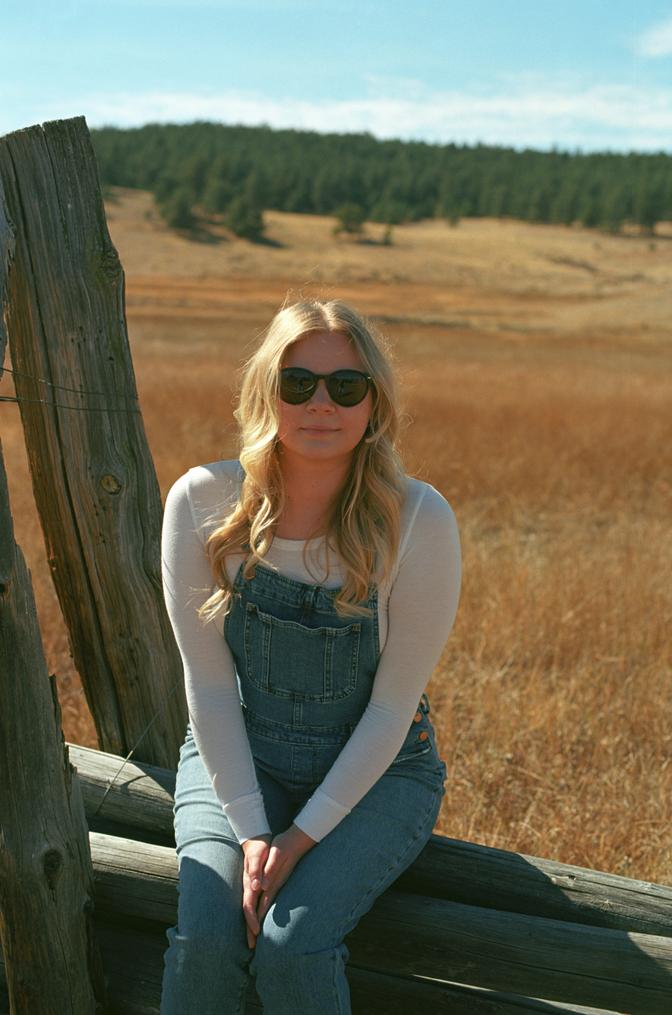
[{"label": "shorter, nearer weathered fence post at the bottom left edge", "polygon": [[[0,187],[0,296],[12,236]],[[0,328],[0,366],[5,341]],[[99,1010],[93,869],[0,444],[0,941],[11,1011]]]}]

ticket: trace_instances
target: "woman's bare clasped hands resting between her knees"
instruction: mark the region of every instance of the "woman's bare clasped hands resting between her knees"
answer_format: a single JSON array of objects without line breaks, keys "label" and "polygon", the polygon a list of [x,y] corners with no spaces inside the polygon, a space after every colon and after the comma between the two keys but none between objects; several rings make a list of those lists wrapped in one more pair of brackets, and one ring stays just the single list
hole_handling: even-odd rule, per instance
[{"label": "woman's bare clasped hands resting between her knees", "polygon": [[248,925],[248,945],[254,948],[264,917],[294,867],[316,845],[316,840],[290,824],[271,838],[257,835],[243,843],[243,912]]}]

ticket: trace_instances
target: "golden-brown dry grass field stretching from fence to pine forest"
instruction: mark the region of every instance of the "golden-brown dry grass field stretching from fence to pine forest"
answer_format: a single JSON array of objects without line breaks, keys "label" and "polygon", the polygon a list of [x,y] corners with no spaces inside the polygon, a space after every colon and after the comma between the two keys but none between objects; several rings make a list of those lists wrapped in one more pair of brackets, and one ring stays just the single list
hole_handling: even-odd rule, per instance
[{"label": "golden-brown dry grass field stretching from fence to pine forest", "polygon": [[[450,781],[438,830],[672,882],[672,228],[466,220],[335,240],[170,232],[108,206],[163,494],[234,457],[237,368],[289,290],[339,295],[395,350],[408,471],[453,504],[458,620],[428,687]],[[5,393],[10,391],[5,382]],[[15,406],[3,449],[66,739],[95,745],[50,584]]]}]

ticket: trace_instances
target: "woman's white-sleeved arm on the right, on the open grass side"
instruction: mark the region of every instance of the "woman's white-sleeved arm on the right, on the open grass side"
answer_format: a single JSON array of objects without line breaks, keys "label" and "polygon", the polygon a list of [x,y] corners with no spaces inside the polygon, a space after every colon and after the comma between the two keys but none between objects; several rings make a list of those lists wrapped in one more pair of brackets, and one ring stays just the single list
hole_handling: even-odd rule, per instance
[{"label": "woman's white-sleeved arm on the right, on the open grass side", "polygon": [[450,504],[433,487],[420,503],[389,601],[389,631],[369,702],[294,824],[324,838],[394,760],[451,632],[461,555]]}]

